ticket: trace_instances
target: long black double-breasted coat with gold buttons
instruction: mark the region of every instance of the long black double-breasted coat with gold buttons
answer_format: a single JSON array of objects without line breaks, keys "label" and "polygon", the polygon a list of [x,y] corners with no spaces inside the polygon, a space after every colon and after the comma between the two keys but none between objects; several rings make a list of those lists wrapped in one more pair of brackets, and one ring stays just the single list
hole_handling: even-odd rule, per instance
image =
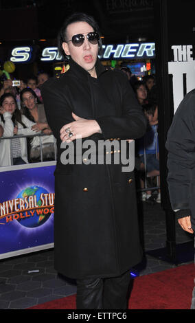
[{"label": "long black double-breasted coat with gold buttons", "polygon": [[[98,78],[70,59],[70,69],[41,89],[45,113],[57,139],[55,170],[55,268],[70,278],[114,277],[141,260],[133,172],[121,164],[64,164],[60,129],[71,113],[96,120],[102,134],[82,139],[135,139],[144,135],[146,118],[122,71],[97,61]],[[76,142],[73,141],[73,142]],[[84,148],[83,148],[84,149]],[[84,150],[86,151],[86,149]],[[82,151],[82,155],[83,152]],[[120,150],[105,151],[112,158]]]}]

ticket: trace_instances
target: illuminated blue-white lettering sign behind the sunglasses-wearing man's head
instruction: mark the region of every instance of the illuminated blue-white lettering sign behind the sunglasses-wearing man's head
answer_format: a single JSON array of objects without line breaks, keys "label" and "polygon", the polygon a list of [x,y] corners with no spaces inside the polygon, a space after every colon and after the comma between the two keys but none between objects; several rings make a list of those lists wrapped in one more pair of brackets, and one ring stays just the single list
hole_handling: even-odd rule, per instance
[{"label": "illuminated blue-white lettering sign behind the sunglasses-wearing man's head", "polygon": [[[14,47],[10,60],[14,63],[29,63],[32,58],[33,47]],[[103,45],[104,53],[99,56],[100,59],[139,59],[154,58],[154,43],[132,43],[119,45]],[[52,62],[62,60],[58,52],[58,47],[45,47],[41,53],[41,61]]]}]

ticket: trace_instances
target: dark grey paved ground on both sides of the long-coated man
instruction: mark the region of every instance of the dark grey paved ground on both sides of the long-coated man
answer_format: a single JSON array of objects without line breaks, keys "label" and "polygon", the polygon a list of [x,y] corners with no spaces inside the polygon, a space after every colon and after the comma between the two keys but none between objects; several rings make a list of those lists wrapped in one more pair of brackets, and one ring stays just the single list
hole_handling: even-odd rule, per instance
[{"label": "dark grey paved ground on both sides of the long-coated man", "polygon": [[[141,276],[175,267],[147,254],[165,247],[165,214],[161,206],[143,203],[140,216],[145,257],[135,272]],[[186,243],[192,238],[176,224],[176,243]],[[74,293],[76,282],[54,270],[53,249],[0,260],[0,309],[26,309]]]}]

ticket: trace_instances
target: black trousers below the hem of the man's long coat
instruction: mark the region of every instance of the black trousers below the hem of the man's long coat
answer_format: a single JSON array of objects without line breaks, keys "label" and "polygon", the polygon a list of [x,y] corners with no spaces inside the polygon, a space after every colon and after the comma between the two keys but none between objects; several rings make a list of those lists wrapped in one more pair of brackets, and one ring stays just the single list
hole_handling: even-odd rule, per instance
[{"label": "black trousers below the hem of the man's long coat", "polygon": [[127,309],[130,271],[114,278],[77,280],[77,309]]}]

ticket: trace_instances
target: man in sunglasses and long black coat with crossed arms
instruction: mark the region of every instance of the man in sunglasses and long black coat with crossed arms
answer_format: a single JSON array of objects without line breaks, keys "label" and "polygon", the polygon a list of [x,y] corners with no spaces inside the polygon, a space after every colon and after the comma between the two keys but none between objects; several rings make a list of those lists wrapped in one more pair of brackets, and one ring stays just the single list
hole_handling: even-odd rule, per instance
[{"label": "man in sunglasses and long black coat with crossed arms", "polygon": [[[126,309],[130,267],[142,252],[133,171],[114,163],[121,148],[113,146],[143,136],[147,121],[124,73],[100,63],[100,32],[91,16],[68,17],[58,43],[69,69],[41,87],[58,147],[55,268],[76,279],[77,309]],[[110,144],[104,157],[110,155],[111,163],[86,162],[86,145],[101,141]],[[74,163],[65,163],[64,145],[74,148]]]}]

